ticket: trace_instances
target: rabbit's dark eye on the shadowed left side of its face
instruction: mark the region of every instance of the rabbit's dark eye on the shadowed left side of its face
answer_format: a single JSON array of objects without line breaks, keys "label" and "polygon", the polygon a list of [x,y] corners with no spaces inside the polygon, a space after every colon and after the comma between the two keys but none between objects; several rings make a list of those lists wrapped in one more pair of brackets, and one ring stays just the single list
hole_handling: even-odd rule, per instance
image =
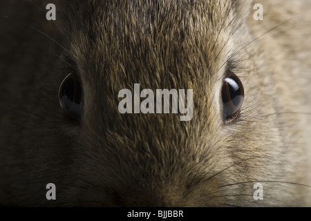
[{"label": "rabbit's dark eye on the shadowed left side of its face", "polygon": [[70,73],[59,87],[59,104],[73,121],[79,121],[82,108],[82,88],[76,73]]}]

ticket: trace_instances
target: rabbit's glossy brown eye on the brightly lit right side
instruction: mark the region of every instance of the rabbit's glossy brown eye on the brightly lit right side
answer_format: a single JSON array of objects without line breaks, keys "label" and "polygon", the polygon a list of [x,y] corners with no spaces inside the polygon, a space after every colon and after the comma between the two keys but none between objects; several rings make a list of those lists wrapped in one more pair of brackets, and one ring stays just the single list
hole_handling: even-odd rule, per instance
[{"label": "rabbit's glossy brown eye on the brightly lit right side", "polygon": [[229,121],[238,115],[243,104],[244,89],[242,82],[234,73],[229,73],[221,89],[221,104],[223,108],[223,120]]}]

